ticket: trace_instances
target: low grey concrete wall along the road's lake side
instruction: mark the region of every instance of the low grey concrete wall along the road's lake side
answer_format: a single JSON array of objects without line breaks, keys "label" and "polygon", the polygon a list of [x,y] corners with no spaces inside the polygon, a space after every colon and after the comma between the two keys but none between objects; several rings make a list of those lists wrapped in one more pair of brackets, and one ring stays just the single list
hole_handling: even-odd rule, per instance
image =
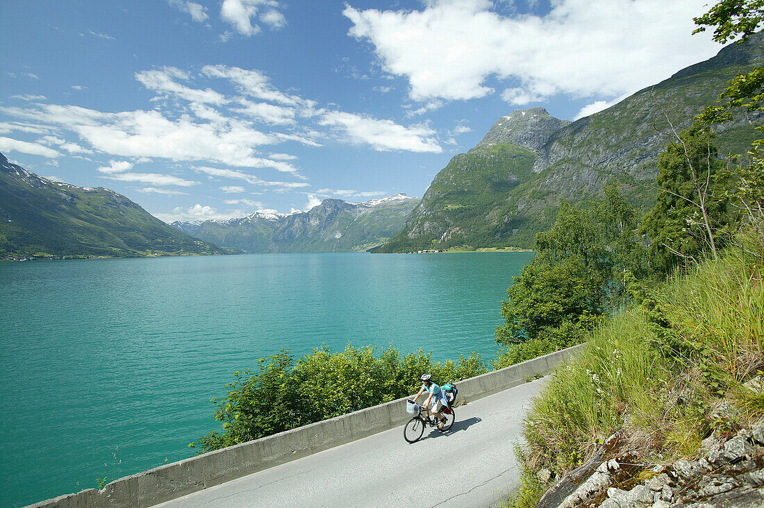
[{"label": "low grey concrete wall along the road's lake side", "polygon": [[[578,353],[584,345],[524,361],[501,370],[459,381],[458,404],[498,393],[525,383],[536,374],[548,374]],[[107,484],[31,505],[34,508],[117,508],[153,506],[197,490],[272,468],[284,462],[365,438],[398,425],[410,415],[406,398],[393,400],[347,415],[269,435],[159,468],[132,474]]]}]

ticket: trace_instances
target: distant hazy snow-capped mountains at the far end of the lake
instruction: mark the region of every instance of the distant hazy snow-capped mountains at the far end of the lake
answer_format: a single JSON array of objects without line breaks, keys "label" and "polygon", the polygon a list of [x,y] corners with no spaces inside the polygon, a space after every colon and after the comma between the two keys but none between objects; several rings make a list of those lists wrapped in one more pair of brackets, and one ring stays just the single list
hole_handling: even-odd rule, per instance
[{"label": "distant hazy snow-capped mountains at the far end of the lake", "polygon": [[307,212],[290,215],[254,213],[229,221],[173,225],[220,247],[253,254],[366,251],[400,231],[418,202],[405,194],[363,203],[325,199]]}]

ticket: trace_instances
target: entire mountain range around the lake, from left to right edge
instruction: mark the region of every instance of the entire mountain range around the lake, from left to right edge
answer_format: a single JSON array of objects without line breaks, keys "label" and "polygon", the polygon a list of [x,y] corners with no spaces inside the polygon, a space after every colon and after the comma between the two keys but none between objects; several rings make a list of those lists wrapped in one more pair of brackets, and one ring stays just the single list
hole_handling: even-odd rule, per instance
[{"label": "entire mountain range around the lake, from left to right edge", "polygon": [[[760,32],[576,121],[517,110],[453,157],[422,199],[325,199],[306,212],[167,225],[111,190],[53,182],[0,154],[0,257],[529,248],[561,199],[587,202],[612,181],[648,209],[671,129],[690,125],[728,79],[762,62]],[[740,112],[719,125],[720,154],[746,150],[762,116]]]}]

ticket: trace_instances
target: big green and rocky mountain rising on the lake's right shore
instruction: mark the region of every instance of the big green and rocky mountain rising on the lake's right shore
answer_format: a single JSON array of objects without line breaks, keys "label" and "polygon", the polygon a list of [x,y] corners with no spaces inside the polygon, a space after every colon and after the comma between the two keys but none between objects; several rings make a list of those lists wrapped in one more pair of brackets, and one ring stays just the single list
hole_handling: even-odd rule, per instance
[{"label": "big green and rocky mountain rising on the lake's right shore", "polygon": [[[730,44],[617,105],[569,122],[544,108],[500,118],[483,141],[454,157],[432,181],[403,230],[377,251],[516,246],[530,248],[548,229],[560,199],[586,201],[616,180],[640,209],[652,205],[656,159],[669,120],[687,127],[727,79],[764,63],[764,34]],[[719,126],[720,153],[741,153],[762,115],[741,113]],[[511,184],[505,179],[513,175]],[[497,185],[497,183],[502,183]]]}]

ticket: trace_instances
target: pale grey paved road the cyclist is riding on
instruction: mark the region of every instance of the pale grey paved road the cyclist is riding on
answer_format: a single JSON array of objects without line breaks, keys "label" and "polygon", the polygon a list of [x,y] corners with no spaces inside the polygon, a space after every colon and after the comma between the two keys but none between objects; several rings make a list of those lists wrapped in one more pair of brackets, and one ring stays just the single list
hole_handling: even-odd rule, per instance
[{"label": "pale grey paved road the cyclist is riding on", "polygon": [[401,426],[158,506],[494,506],[520,483],[513,443],[544,382],[460,406],[412,445]]}]

